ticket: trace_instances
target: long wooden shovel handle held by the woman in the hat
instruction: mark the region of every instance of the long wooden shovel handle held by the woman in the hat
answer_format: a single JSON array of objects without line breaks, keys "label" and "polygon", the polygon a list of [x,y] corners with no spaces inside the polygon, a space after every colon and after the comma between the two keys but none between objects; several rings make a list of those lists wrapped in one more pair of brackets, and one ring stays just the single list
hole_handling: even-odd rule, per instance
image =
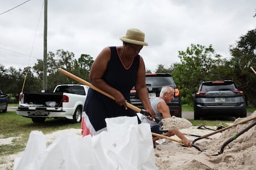
[{"label": "long wooden shovel handle held by the woman in the hat", "polygon": [[[78,81],[78,82],[84,84],[84,85],[89,86],[89,87],[92,88],[93,90],[98,91],[98,92],[101,93],[101,94],[104,94],[105,96],[109,97],[110,99],[115,100],[115,97],[113,97],[112,95],[106,93],[105,91],[100,90],[99,88],[97,88],[97,87],[95,87],[94,85],[92,85],[92,83],[89,83],[89,82],[87,82],[86,80],[81,79],[80,77],[75,76],[75,75],[72,74],[72,73],[69,73],[69,71],[63,70],[63,69],[61,69],[61,68],[58,68],[58,71],[61,72],[62,74],[65,74],[66,76],[68,76],[68,77],[70,77],[70,78],[72,78],[72,79],[74,79],[74,80],[76,80],[76,81]],[[144,114],[144,115],[146,115],[146,116],[150,116],[149,113],[147,113],[146,111],[141,110],[140,108],[138,108],[138,107],[132,105],[132,104],[129,103],[129,102],[126,102],[126,106],[127,106],[128,108],[130,108],[131,110],[134,110],[134,111],[136,111],[136,112],[138,112],[138,113]]]}]

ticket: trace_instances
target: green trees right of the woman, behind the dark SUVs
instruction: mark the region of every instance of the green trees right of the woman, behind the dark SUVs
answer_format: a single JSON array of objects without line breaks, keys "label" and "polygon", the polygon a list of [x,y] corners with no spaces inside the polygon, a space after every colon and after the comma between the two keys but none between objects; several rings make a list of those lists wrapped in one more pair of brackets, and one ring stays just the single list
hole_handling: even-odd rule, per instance
[{"label": "green trees right of the woman, behind the dark SUVs", "polygon": [[170,73],[181,92],[183,103],[192,104],[192,94],[201,82],[207,80],[234,80],[246,96],[246,102],[256,106],[256,29],[240,36],[229,47],[231,59],[216,54],[212,45],[191,44],[185,51],[178,51],[180,63],[166,68],[158,65],[157,73]]}]

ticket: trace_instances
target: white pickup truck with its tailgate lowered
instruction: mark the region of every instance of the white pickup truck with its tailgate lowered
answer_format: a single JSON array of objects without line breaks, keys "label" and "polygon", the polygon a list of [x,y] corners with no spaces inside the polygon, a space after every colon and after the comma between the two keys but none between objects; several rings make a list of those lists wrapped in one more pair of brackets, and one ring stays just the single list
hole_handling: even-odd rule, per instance
[{"label": "white pickup truck with its tailgate lowered", "polygon": [[53,93],[21,93],[16,113],[29,117],[33,122],[44,122],[46,118],[64,117],[73,123],[81,122],[84,102],[89,87],[78,84],[61,84]]}]

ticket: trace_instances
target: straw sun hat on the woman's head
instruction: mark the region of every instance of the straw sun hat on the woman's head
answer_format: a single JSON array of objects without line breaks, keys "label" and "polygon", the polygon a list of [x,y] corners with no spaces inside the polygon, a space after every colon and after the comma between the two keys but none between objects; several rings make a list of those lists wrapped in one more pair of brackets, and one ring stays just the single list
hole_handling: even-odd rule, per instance
[{"label": "straw sun hat on the woman's head", "polygon": [[136,44],[136,45],[148,45],[147,42],[144,42],[145,34],[143,31],[131,28],[126,31],[126,36],[123,36],[120,38],[121,41],[127,42],[130,44]]}]

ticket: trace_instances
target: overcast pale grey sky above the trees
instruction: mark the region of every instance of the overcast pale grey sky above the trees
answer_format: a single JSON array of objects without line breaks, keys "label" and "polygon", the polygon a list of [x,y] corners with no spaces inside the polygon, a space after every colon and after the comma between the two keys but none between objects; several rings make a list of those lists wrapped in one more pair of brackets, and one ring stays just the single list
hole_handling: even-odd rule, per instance
[{"label": "overcast pale grey sky above the trees", "polygon": [[[0,0],[0,64],[5,68],[33,67],[43,59],[44,0],[25,1]],[[229,58],[229,46],[256,28],[255,13],[255,0],[48,0],[47,51],[95,59],[104,47],[122,45],[119,38],[128,28],[138,28],[149,44],[140,54],[155,72],[158,64],[180,62],[178,51],[190,44],[212,44],[215,53]]]}]

